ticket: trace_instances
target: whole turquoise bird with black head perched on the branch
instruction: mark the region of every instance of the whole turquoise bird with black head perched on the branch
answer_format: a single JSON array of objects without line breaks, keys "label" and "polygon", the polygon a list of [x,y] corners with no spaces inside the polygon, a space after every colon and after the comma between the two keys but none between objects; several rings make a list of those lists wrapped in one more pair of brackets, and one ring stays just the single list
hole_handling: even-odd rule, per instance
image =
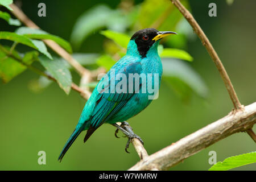
[{"label": "whole turquoise bird with black head perched on the branch", "polygon": [[[145,109],[154,99],[152,97],[155,97],[156,92],[158,92],[163,72],[158,55],[158,45],[160,39],[171,34],[176,33],[158,31],[154,28],[146,28],[135,32],[127,46],[126,55],[113,65],[93,90],[82,110],[79,123],[61,151],[58,160],[63,159],[69,147],[82,131],[87,130],[84,138],[84,142],[86,142],[103,123],[110,123],[117,127],[117,131],[119,129],[126,134],[129,138],[126,151],[131,138],[141,140],[132,130],[125,130],[127,127],[122,126],[129,125],[126,122],[127,119]],[[118,79],[113,75],[119,75],[120,78]],[[136,75],[140,76],[139,80],[136,81],[136,78],[133,77],[129,80],[130,76]],[[151,90],[148,87],[150,84]],[[157,90],[152,93],[152,89],[155,88]],[[117,122],[122,122],[122,125],[117,125]],[[115,131],[115,136],[117,131]],[[143,143],[142,140],[141,142]]]}]

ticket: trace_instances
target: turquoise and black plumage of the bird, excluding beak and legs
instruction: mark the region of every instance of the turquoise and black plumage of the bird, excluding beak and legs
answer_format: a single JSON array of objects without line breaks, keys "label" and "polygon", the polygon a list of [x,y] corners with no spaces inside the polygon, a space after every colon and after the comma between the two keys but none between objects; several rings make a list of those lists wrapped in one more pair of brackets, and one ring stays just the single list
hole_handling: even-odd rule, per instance
[{"label": "turquoise and black plumage of the bird, excluding beak and legs", "polygon": [[[158,55],[159,40],[152,40],[152,38],[159,35],[158,33],[159,32],[155,29],[147,28],[138,31],[136,33],[138,35],[134,34],[127,46],[126,55],[117,61],[117,63],[115,63],[107,73],[109,81],[112,79],[110,77],[110,73],[113,70],[115,75],[123,73],[127,77],[129,73],[138,73],[138,75],[141,73],[146,75],[148,73],[152,73],[153,75],[154,73],[158,73],[159,80],[157,84],[160,86],[163,70],[162,63]],[[142,44],[138,43],[138,39],[141,39],[140,36],[144,39],[143,36],[145,35],[148,36],[151,41],[147,41],[149,46],[144,46],[146,42],[142,41],[144,47],[140,48]],[[93,90],[89,100],[86,102],[84,109],[82,110],[79,123],[61,151],[59,160],[63,158],[65,152],[67,152],[68,148],[82,131],[88,130],[84,139],[84,142],[86,142],[90,135],[92,135],[92,133],[103,123],[112,124],[126,121],[140,113],[152,101],[148,99],[150,93],[135,93],[135,90],[133,90],[133,93],[99,93],[98,87],[102,86],[101,84],[103,81],[104,78],[100,80],[96,88]],[[141,81],[140,84],[147,84],[147,81],[146,83],[142,83]],[[118,81],[115,81],[114,85],[109,84],[109,89],[114,89],[114,86],[117,84]],[[154,84],[154,79],[152,79],[152,85]],[[139,89],[141,89],[141,87]]]}]

